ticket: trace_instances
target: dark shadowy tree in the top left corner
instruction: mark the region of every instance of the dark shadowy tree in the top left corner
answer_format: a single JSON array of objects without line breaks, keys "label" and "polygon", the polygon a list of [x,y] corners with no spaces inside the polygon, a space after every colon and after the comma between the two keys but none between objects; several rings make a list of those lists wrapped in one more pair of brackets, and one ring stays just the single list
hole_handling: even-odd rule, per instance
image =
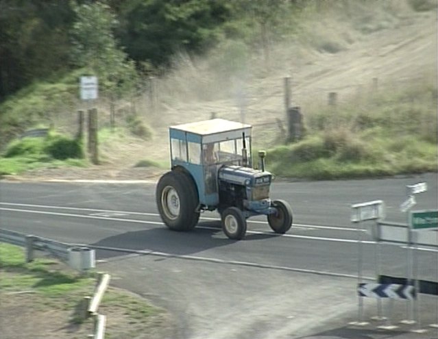
[{"label": "dark shadowy tree in the top left corner", "polygon": [[68,0],[0,0],[0,101],[68,68]]}]

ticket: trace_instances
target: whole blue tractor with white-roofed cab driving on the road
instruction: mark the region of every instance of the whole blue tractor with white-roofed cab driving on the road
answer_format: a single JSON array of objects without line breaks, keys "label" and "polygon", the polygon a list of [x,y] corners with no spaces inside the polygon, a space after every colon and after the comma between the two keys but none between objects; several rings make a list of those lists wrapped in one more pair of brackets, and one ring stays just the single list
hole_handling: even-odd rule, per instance
[{"label": "whole blue tractor with white-roofed cab driving on the road", "polygon": [[160,177],[156,203],[162,221],[175,231],[189,231],[199,214],[217,210],[230,239],[245,237],[246,219],[265,214],[273,231],[292,226],[287,201],[269,199],[273,175],[265,171],[265,152],[252,168],[251,125],[223,119],[169,127],[171,171]]}]

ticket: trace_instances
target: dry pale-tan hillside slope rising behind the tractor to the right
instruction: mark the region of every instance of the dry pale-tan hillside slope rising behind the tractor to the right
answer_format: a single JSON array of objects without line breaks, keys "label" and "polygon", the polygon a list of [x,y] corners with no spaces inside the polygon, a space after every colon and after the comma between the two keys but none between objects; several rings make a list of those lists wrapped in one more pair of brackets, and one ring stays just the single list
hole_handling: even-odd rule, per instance
[{"label": "dry pale-tan hillside slope rising behind the tractor to the right", "polygon": [[[400,1],[398,1],[400,3]],[[393,11],[394,12],[394,11]],[[291,76],[292,99],[306,112],[337,92],[339,101],[356,100],[381,88],[400,88],[415,82],[436,84],[437,11],[369,12],[369,21],[354,16],[340,21],[329,12],[307,21],[302,34],[271,46],[269,60],[247,58],[245,72],[227,81],[209,59],[181,58],[178,67],[158,82],[158,104],[151,112],[140,96],[136,110],[154,131],[151,140],[123,138],[101,145],[100,166],[83,170],[56,169],[26,173],[23,178],[153,178],[163,170],[133,168],[143,159],[167,162],[167,127],[178,123],[220,118],[255,125],[256,147],[281,140],[277,119],[285,121],[284,76]],[[360,19],[360,20],[359,20]],[[211,58],[214,58],[212,55]],[[376,80],[373,80],[373,79]],[[435,85],[436,86],[436,85]]]}]

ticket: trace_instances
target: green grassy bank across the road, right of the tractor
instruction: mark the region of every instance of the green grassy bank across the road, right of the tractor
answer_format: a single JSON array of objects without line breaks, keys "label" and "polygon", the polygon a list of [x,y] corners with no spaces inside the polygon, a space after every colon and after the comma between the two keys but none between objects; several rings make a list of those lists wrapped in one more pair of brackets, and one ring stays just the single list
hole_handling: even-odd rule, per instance
[{"label": "green grassy bank across the road, right of the tractor", "polygon": [[308,112],[300,142],[269,151],[277,175],[381,177],[438,170],[437,88],[413,84],[367,100]]}]

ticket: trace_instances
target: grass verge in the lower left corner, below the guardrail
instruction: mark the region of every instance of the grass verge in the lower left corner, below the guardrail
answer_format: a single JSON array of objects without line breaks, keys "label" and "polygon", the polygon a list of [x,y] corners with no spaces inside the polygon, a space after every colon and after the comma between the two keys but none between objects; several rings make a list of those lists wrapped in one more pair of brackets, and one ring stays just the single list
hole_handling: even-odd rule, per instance
[{"label": "grass verge in the lower left corner, below the guardrail", "polygon": [[[91,334],[92,319],[80,321],[77,307],[85,296],[93,294],[95,275],[81,275],[53,259],[25,263],[23,252],[21,247],[0,244],[0,323],[8,324],[2,338],[16,338],[8,337],[9,332],[23,338],[52,338],[56,334],[73,339]],[[14,314],[16,310],[19,314]],[[117,288],[108,288],[99,313],[107,316],[106,338],[134,338],[169,327],[163,310]],[[19,328],[10,328],[14,324]],[[29,329],[23,324],[29,324]],[[24,333],[27,330],[29,334]]]}]

